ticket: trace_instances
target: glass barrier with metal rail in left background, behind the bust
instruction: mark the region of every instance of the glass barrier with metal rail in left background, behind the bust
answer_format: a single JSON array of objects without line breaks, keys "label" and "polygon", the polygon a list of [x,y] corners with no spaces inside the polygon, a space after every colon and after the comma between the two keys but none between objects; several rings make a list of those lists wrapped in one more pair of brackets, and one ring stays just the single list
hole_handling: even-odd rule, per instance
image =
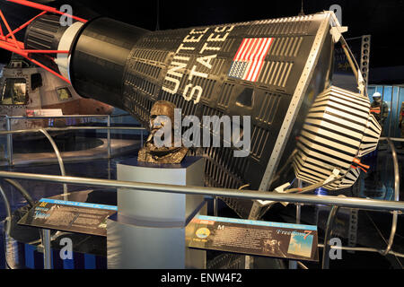
[{"label": "glass barrier with metal rail in left background, behind the bust", "polygon": [[[83,160],[105,158],[125,152],[136,153],[146,136],[145,129],[127,113],[110,116],[0,117],[0,120],[2,130],[7,130],[7,125],[11,130],[35,130],[12,136],[0,135],[2,166],[55,158],[52,145],[38,131],[40,128],[50,128],[48,134],[62,153],[64,161],[77,161],[81,157],[85,157]],[[108,130],[108,126],[115,129]]]}]

